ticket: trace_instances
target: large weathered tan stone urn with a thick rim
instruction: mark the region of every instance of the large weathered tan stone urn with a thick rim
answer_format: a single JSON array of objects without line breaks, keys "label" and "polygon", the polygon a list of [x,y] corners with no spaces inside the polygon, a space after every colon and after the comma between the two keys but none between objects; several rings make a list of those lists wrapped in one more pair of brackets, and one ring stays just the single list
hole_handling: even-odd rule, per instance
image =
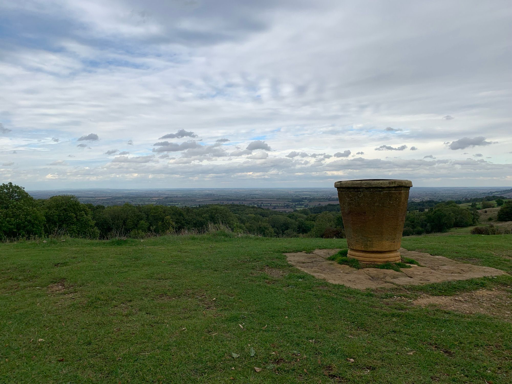
[{"label": "large weathered tan stone urn with a thick rim", "polygon": [[409,180],[337,181],[348,257],[364,263],[400,261]]}]

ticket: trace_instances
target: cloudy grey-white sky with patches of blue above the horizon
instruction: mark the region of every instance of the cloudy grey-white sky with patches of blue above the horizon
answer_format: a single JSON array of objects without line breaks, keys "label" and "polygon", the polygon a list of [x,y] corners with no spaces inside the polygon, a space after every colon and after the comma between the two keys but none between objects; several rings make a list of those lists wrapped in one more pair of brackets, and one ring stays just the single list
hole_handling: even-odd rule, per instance
[{"label": "cloudy grey-white sky with patches of blue above the horizon", "polygon": [[509,0],[0,2],[0,182],[512,186]]}]

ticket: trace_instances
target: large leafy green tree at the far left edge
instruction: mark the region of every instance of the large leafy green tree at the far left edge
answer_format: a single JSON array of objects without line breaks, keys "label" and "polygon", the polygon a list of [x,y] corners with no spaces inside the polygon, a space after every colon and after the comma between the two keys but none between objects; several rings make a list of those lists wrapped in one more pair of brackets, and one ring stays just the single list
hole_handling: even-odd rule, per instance
[{"label": "large leafy green tree at the far left edge", "polygon": [[42,236],[45,217],[23,187],[0,185],[0,239]]}]

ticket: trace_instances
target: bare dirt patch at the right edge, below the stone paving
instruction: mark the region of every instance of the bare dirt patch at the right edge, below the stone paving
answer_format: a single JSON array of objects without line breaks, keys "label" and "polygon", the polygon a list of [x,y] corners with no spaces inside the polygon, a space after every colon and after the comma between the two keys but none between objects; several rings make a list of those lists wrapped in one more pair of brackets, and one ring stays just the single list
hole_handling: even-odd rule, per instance
[{"label": "bare dirt patch at the right edge, below the stone paving", "polygon": [[503,290],[478,290],[455,296],[421,295],[412,302],[422,307],[434,305],[462,313],[484,313],[512,321],[512,294]]}]

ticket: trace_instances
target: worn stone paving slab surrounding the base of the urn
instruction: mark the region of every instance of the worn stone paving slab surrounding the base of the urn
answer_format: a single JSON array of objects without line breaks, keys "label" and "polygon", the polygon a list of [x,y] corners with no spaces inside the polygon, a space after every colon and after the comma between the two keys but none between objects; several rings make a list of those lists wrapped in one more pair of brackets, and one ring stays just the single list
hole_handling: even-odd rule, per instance
[{"label": "worn stone paving slab surrounding the base of the urn", "polygon": [[316,249],[311,253],[297,252],[285,255],[290,264],[318,279],[358,289],[431,284],[505,274],[500,269],[461,263],[442,256],[408,251],[405,248],[400,248],[400,254],[416,260],[421,267],[411,265],[412,268],[401,268],[401,272],[378,268],[355,269],[327,260],[338,250]]}]

